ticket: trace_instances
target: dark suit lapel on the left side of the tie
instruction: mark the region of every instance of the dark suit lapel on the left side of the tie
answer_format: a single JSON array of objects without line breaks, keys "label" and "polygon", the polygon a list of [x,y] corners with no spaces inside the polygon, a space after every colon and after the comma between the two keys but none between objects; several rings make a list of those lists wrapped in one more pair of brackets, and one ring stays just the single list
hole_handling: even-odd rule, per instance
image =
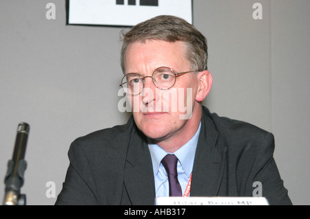
[{"label": "dark suit lapel on the left side of the tie", "polygon": [[130,139],[124,182],[132,205],[154,205],[155,185],[152,158],[147,141],[140,132],[134,132]]}]

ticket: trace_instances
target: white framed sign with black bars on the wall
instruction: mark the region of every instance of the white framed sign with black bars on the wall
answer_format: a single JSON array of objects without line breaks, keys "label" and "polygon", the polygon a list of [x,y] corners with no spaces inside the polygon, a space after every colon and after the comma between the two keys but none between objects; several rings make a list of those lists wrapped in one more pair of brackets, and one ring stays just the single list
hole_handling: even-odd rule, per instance
[{"label": "white framed sign with black bars on the wall", "polygon": [[133,26],[163,14],[193,23],[192,8],[192,0],[67,0],[67,23]]}]

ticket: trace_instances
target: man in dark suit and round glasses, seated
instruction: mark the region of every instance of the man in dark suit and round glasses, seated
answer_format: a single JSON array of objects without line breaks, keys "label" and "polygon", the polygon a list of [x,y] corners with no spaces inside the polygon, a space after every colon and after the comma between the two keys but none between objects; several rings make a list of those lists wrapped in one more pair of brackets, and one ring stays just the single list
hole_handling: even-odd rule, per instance
[{"label": "man in dark suit and round glasses, seated", "polygon": [[139,23],[123,36],[121,66],[133,116],[72,143],[56,205],[253,196],[257,182],[271,205],[291,205],[273,160],[273,135],[201,105],[212,76],[206,39],[194,26],[174,16]]}]

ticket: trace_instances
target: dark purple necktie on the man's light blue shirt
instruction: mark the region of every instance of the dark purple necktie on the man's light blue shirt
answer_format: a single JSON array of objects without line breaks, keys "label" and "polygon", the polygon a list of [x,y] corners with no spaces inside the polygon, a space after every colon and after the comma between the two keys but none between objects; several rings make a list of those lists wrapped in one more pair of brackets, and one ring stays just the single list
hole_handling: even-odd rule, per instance
[{"label": "dark purple necktie on the man's light blue shirt", "polygon": [[167,154],[162,160],[169,179],[169,196],[182,196],[182,189],[178,182],[178,172],[176,170],[176,164],[178,158],[174,154]]}]

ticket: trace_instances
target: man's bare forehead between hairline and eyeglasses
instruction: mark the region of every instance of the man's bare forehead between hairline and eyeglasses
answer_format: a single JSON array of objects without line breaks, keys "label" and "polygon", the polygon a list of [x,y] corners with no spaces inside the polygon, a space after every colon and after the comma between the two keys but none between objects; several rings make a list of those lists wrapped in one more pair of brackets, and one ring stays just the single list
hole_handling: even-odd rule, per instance
[{"label": "man's bare forehead between hairline and eyeglasses", "polygon": [[189,65],[185,56],[185,43],[147,40],[130,43],[125,53],[125,69],[128,72],[154,71],[158,67],[184,69]]}]

